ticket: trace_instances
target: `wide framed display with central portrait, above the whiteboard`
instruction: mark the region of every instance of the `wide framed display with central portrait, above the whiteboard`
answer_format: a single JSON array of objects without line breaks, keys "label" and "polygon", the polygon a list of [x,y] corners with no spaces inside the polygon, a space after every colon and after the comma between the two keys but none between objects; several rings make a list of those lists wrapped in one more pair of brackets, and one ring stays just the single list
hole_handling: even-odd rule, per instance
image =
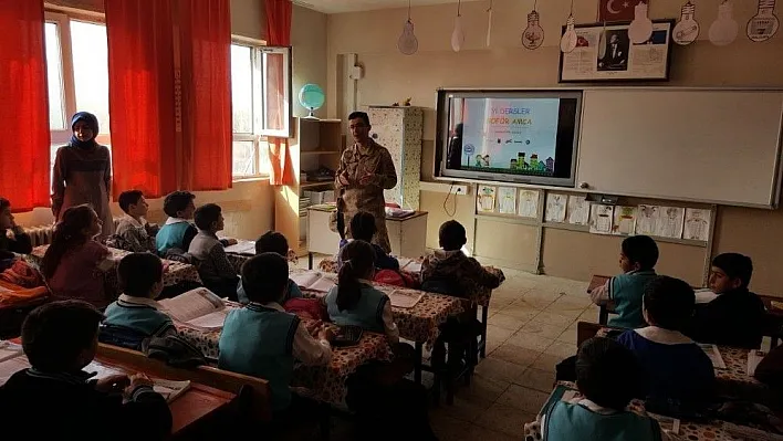
[{"label": "wide framed display with central portrait, above the whiteboard", "polygon": [[577,24],[576,49],[560,53],[558,82],[669,81],[674,24],[652,20],[652,35],[641,44],[630,42],[630,22]]}]

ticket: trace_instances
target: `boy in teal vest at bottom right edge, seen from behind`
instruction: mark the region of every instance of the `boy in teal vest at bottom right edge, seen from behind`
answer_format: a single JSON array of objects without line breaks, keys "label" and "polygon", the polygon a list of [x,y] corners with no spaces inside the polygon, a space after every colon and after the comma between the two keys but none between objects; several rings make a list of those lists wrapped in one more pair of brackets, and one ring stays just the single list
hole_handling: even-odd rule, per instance
[{"label": "boy in teal vest at bottom right edge, seen from behind", "polygon": [[609,338],[586,340],[576,358],[576,387],[581,396],[563,400],[560,395],[552,395],[544,405],[542,438],[550,441],[669,439],[656,420],[626,410],[639,380],[638,363],[628,349]]}]

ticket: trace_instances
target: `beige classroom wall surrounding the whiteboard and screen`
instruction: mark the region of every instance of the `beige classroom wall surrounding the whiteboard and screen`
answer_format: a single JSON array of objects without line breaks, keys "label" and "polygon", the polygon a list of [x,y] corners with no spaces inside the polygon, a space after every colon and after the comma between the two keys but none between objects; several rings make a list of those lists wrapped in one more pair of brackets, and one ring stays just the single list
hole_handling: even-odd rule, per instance
[{"label": "beige classroom wall surrounding the whiteboard and screen", "polygon": [[[327,96],[328,115],[336,116],[346,104],[341,102],[349,80],[344,78],[340,61],[357,54],[365,77],[356,83],[356,105],[390,104],[406,97],[413,105],[425,107],[422,180],[432,179],[435,96],[437,87],[556,87],[561,25],[571,7],[570,0],[539,1],[544,45],[525,50],[520,42],[532,1],[495,0],[491,48],[484,49],[487,2],[463,2],[466,30],[463,50],[455,53],[450,35],[456,4],[417,7],[411,20],[419,40],[419,51],[401,55],[397,39],[407,18],[406,9],[367,11],[328,15]],[[650,17],[679,18],[681,0],[656,0]],[[596,1],[575,1],[577,23],[596,21]],[[783,87],[783,33],[764,43],[752,43],[744,35],[748,19],[755,13],[756,2],[735,1],[734,15],[740,36],[729,46],[717,48],[706,41],[709,25],[717,17],[717,4],[699,3],[697,20],[700,39],[686,48],[675,48],[671,86],[775,86]],[[347,105],[353,106],[353,103]],[[731,109],[727,109],[731,112]],[[716,177],[728,170],[716,170]],[[429,187],[431,188],[431,187]],[[446,188],[421,192],[421,209],[430,212],[427,245],[437,246],[438,225],[450,218],[468,229],[468,246],[478,255],[508,262],[524,269],[531,262],[534,235],[519,224],[473,219],[474,193],[450,197],[443,209]],[[441,192],[442,191],[442,192]],[[456,201],[456,202],[455,202]],[[476,229],[473,225],[476,224]],[[473,234],[474,233],[474,234]],[[755,262],[752,287],[762,293],[783,295],[783,273],[776,264],[783,251],[775,245],[783,235],[783,211],[721,208],[716,224],[714,253],[738,251]],[[473,237],[477,243],[473,243]],[[502,240],[513,238],[513,240]],[[592,273],[617,271],[618,239],[595,237],[584,232],[545,229],[542,265],[545,273],[575,280],[587,280]],[[513,245],[510,243],[513,242]],[[522,250],[522,251],[518,251]],[[679,244],[661,245],[659,267],[698,283],[702,276],[703,249]]]}]

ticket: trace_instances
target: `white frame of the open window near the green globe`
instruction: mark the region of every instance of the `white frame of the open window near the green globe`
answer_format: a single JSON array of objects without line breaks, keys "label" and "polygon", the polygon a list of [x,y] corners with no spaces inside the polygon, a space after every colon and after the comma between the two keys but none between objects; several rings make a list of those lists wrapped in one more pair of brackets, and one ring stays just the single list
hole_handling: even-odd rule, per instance
[{"label": "white frame of the open window near the green globe", "polygon": [[[293,112],[291,91],[293,77],[292,72],[292,57],[291,48],[288,46],[269,46],[264,41],[248,39],[243,36],[233,35],[231,39],[231,45],[240,45],[250,49],[250,65],[251,65],[251,88],[252,88],[252,103],[251,103],[251,124],[252,128],[250,133],[234,133],[233,124],[231,125],[231,141],[252,141],[254,149],[255,164],[253,165],[253,172],[250,175],[233,175],[231,178],[233,181],[253,178],[268,178],[271,170],[269,166],[265,169],[262,168],[264,161],[262,161],[262,156],[269,157],[269,144],[267,143],[268,137],[285,137],[290,138],[292,136],[292,124],[291,115]],[[264,127],[265,124],[265,112],[268,108],[265,98],[265,87],[267,87],[267,75],[265,73],[265,56],[264,54],[283,54],[285,63],[283,64],[283,76],[288,84],[285,87],[284,96],[284,108],[283,108],[283,129],[274,130]],[[233,145],[232,145],[233,151]],[[265,161],[267,164],[269,160]],[[233,160],[232,160],[233,169]]]}]

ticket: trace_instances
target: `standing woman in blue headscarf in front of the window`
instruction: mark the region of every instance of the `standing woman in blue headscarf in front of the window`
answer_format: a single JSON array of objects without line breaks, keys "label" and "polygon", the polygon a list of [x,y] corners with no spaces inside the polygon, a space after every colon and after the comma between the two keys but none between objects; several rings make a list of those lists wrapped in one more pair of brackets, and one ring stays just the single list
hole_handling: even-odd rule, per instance
[{"label": "standing woman in blue headscarf in front of the window", "polygon": [[114,232],[108,191],[112,161],[108,148],[97,144],[98,122],[95,115],[79,112],[71,119],[73,135],[67,146],[58,149],[52,174],[52,214],[61,220],[66,209],[88,203],[103,221],[101,239]]}]

